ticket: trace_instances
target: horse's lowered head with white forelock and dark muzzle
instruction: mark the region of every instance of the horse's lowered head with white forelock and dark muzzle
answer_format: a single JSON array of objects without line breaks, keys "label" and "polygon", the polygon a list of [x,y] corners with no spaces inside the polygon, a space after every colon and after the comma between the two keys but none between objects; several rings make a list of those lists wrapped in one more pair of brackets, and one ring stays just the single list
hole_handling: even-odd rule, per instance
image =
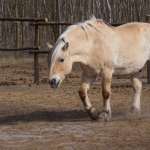
[{"label": "horse's lowered head with white forelock and dark muzzle", "polygon": [[69,54],[69,42],[63,38],[56,42],[48,55],[48,78],[52,88],[57,88],[65,76],[72,70],[72,61]]}]

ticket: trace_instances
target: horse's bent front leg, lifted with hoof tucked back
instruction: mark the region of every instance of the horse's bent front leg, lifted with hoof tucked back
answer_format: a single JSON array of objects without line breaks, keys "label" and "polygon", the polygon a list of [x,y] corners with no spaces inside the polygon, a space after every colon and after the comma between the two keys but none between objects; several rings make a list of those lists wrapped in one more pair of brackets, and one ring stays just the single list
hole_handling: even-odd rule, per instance
[{"label": "horse's bent front leg, lifted with hoof tucked back", "polygon": [[95,80],[96,76],[88,76],[85,73],[82,75],[82,85],[79,90],[79,96],[84,104],[88,115],[92,120],[96,120],[98,118],[98,111],[92,107],[90,100],[87,95],[87,91],[89,90],[91,84]]}]

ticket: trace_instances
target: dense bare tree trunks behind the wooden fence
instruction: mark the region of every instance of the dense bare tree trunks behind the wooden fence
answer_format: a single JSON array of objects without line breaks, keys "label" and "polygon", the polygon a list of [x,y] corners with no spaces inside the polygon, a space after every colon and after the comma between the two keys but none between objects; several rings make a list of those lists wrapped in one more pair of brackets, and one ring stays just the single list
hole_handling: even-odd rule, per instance
[{"label": "dense bare tree trunks behind the wooden fence", "polygon": [[[81,22],[94,15],[107,22],[145,22],[150,0],[0,0],[0,17],[35,18],[36,12],[49,21]],[[62,26],[62,32],[65,28]],[[58,36],[58,26],[40,26],[41,49]],[[28,22],[0,21],[0,47],[33,45],[34,27]]]}]

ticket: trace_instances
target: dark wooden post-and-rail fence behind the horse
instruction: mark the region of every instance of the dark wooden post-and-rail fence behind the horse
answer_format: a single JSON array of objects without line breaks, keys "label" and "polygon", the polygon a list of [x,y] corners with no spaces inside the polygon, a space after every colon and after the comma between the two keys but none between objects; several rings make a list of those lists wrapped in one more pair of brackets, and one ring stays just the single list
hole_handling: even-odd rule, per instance
[{"label": "dark wooden post-and-rail fence behind the horse", "polygon": [[[39,26],[45,25],[72,25],[75,23],[71,22],[48,22],[48,19],[40,19],[40,13],[36,13],[36,18],[27,19],[27,18],[0,18],[0,21],[32,21],[30,23],[31,26],[35,26],[35,40],[33,47],[24,47],[24,48],[0,48],[0,51],[22,51],[22,50],[30,50],[29,54],[34,54],[34,82],[39,82],[39,64],[38,64],[38,54],[48,54],[49,50],[39,50]],[[34,21],[34,22],[33,22]],[[150,23],[150,15],[147,16],[147,22]],[[111,23],[112,26],[120,26],[125,23]],[[147,62],[147,82],[150,84],[150,62]]]}]

